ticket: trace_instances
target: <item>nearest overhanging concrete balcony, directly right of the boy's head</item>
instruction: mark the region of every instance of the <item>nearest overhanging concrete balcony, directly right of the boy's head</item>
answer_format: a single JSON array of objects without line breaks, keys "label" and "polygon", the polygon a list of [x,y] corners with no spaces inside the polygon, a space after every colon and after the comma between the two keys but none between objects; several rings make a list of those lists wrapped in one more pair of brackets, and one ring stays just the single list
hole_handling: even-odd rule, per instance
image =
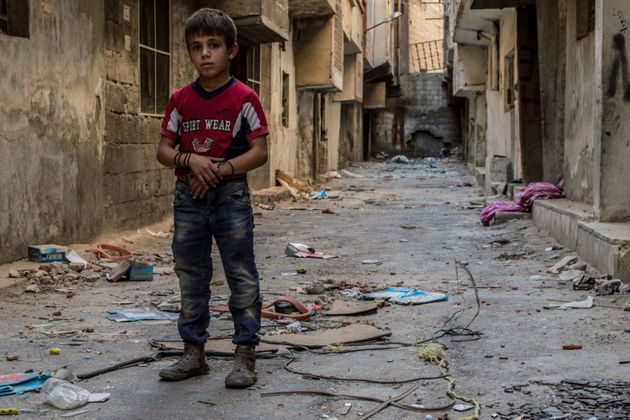
[{"label": "nearest overhanging concrete balcony, directly right of the boy's head", "polygon": [[229,14],[236,24],[239,39],[252,44],[289,39],[288,0],[202,0],[200,5]]}]

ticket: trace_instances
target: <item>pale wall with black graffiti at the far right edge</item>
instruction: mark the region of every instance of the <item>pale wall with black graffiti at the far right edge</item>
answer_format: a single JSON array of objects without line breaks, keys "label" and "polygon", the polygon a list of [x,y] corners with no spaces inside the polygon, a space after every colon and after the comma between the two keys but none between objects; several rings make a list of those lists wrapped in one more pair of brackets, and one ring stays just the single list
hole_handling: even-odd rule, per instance
[{"label": "pale wall with black graffiti at the far right edge", "polygon": [[[597,3],[595,26],[597,44],[596,86],[601,86],[601,123],[596,131],[596,156],[599,155],[599,177],[596,177],[596,212],[601,221],[630,220],[630,80],[628,69],[627,1],[607,0]],[[599,25],[601,22],[601,25]],[[623,72],[626,77],[623,77]],[[597,127],[597,126],[596,126]]]}]

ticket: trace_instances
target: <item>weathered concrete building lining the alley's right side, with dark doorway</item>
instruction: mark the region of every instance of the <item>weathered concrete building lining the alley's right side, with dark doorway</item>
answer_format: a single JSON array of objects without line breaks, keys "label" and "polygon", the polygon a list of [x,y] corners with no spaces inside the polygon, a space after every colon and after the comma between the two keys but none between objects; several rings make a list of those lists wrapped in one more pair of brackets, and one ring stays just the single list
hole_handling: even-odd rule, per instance
[{"label": "weathered concrete building lining the alley's right side, with dark doorway", "polygon": [[446,4],[453,94],[465,98],[466,158],[488,191],[563,182],[534,220],[599,271],[630,281],[630,110],[617,0]]}]

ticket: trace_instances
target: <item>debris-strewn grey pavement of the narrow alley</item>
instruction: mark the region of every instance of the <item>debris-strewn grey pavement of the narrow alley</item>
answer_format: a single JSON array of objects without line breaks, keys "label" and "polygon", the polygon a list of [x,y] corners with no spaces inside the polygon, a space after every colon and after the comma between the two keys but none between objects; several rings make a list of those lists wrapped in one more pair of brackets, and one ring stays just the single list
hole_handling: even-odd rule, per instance
[{"label": "debris-strewn grey pavement of the narrow alley", "polygon": [[[307,331],[303,334],[366,324],[386,332],[386,337],[338,348],[287,346],[262,352],[259,381],[245,391],[223,386],[231,357],[211,356],[208,375],[180,383],[158,380],[159,368],[172,358],[144,360],[79,382],[92,393],[111,394],[108,402],[83,407],[82,418],[364,418],[379,407],[378,401],[412,388],[400,400],[404,406],[390,402],[374,418],[460,418],[472,415],[474,408],[457,413],[453,403],[466,408],[475,402],[480,404],[479,418],[628,418],[629,367],[619,363],[630,358],[630,334],[627,312],[619,309],[622,300],[597,296],[589,309],[546,309],[591,294],[572,290],[561,275],[546,272],[575,253],[529,219],[483,227],[479,207],[486,198],[454,160],[355,163],[349,171],[359,177],[344,176],[325,186],[329,193],[339,193],[336,199],[284,201],[271,210],[273,206],[264,204],[264,209],[255,207],[263,299],[270,302],[286,295],[308,307],[320,305],[298,327]],[[169,228],[165,222],[149,230],[167,233]],[[170,238],[146,232],[108,239],[164,273],[153,281],[87,282],[81,277],[41,284],[22,278],[3,288],[0,310],[14,315],[0,324],[2,351],[19,360],[1,361],[2,370],[39,372],[67,366],[81,375],[157,354],[152,343],[178,340],[173,320],[106,319],[116,308],[178,302],[177,279],[169,271]],[[288,257],[285,248],[290,242],[337,258]],[[220,261],[215,263],[213,307],[225,304],[228,294]],[[295,274],[298,271],[303,274]],[[29,284],[39,284],[40,293],[23,293]],[[379,301],[374,314],[325,316],[333,301],[361,302],[361,294],[392,286],[445,293],[448,300],[423,305]],[[213,338],[226,336],[231,328],[227,315],[213,315]],[[266,341],[287,333],[288,327],[265,319],[263,332]],[[455,392],[469,402],[447,397],[448,383],[440,378],[439,368],[418,357],[420,343],[432,339],[444,346]],[[567,344],[579,344],[580,349],[563,350]],[[53,348],[60,354],[51,355]],[[376,399],[265,395],[287,391]],[[1,401],[3,407],[45,410],[49,417],[63,414],[40,400],[37,394],[24,394]],[[431,407],[444,408],[425,411]]]}]

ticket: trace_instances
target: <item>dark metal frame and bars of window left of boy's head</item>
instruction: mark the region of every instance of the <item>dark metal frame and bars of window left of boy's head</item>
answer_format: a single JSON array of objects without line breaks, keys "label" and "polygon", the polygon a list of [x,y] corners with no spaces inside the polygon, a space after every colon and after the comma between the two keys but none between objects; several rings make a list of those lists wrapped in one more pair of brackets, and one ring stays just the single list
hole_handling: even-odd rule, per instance
[{"label": "dark metal frame and bars of window left of boy's head", "polygon": [[[153,1],[153,6],[154,6],[154,12],[153,12],[153,42],[155,45],[157,45],[157,13],[155,13],[156,10],[156,6],[157,6],[157,2],[159,0],[150,0]],[[138,106],[139,106],[139,115],[143,115],[143,116],[149,116],[149,117],[163,117],[164,116],[164,109],[162,110],[158,110],[157,109],[157,55],[161,54],[163,56],[168,57],[168,95],[170,95],[171,92],[171,86],[173,84],[173,60],[172,58],[172,47],[173,47],[173,25],[172,25],[172,17],[173,17],[173,6],[172,6],[172,1],[171,0],[167,0],[168,1],[168,52],[165,52],[163,50],[159,50],[156,47],[150,47],[148,45],[142,44],[140,42],[140,31],[142,30],[142,11],[140,9],[140,1],[138,1],[137,5],[138,5],[138,62],[137,62],[137,68],[138,68],[138,77],[139,77],[139,101],[138,101]],[[152,53],[152,56],[154,58],[153,63],[153,77],[154,77],[154,86],[153,89],[155,90],[154,92],[154,100],[153,100],[153,107],[155,112],[144,112],[142,110],[142,65],[141,65],[141,60],[142,60],[142,50],[148,50]],[[167,96],[167,103],[168,103],[168,96]],[[160,111],[160,112],[158,112]]]}]

